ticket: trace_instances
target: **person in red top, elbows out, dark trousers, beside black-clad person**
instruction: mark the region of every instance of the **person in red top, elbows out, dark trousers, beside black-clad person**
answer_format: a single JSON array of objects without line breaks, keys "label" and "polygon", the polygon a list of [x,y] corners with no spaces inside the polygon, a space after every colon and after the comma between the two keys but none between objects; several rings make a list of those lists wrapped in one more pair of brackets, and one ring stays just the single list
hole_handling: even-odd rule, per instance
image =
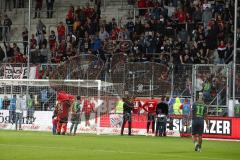
[{"label": "person in red top, elbows out, dark trousers, beside black-clad person", "polygon": [[149,134],[149,127],[152,123],[152,134],[155,133],[155,116],[156,116],[156,108],[157,108],[158,101],[153,97],[150,100],[147,100],[144,105],[143,109],[148,112],[148,120],[147,120],[147,134]]}]

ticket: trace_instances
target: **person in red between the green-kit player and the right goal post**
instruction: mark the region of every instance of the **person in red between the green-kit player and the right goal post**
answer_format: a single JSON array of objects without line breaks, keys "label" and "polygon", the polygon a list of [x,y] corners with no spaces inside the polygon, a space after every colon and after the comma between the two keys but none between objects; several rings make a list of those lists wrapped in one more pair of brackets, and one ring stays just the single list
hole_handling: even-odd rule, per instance
[{"label": "person in red between the green-kit player and the right goal post", "polygon": [[95,107],[94,103],[90,102],[88,98],[84,100],[82,112],[84,112],[84,115],[85,115],[86,127],[90,126],[89,119],[90,119],[91,112],[94,111],[94,107]]}]

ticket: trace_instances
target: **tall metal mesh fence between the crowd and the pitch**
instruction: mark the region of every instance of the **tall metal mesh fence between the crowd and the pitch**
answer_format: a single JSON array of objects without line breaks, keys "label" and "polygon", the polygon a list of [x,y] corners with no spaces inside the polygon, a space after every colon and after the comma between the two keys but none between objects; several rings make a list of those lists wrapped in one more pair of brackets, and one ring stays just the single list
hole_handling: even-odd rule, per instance
[{"label": "tall metal mesh fence between the crowd and the pitch", "polygon": [[[128,62],[127,55],[112,56],[111,61],[102,61],[94,55],[80,55],[63,64],[34,64],[36,79],[52,80],[101,80],[102,96],[135,97],[186,97],[195,101],[203,92],[211,115],[227,115],[232,95],[231,65],[163,65],[154,62]],[[240,65],[237,65],[240,69]],[[237,71],[239,71],[237,69]],[[25,78],[25,64],[1,64],[2,78]],[[32,72],[32,69],[31,69]],[[24,76],[25,75],[25,76]],[[40,75],[45,75],[41,76]],[[236,73],[236,97],[240,97],[240,74]],[[54,84],[54,83],[53,83]],[[199,87],[200,84],[200,87]],[[53,90],[62,90],[61,85],[51,85]],[[57,86],[57,88],[55,88]],[[9,88],[10,87],[10,88]],[[16,86],[18,88],[18,86]],[[26,89],[26,88],[25,88]],[[70,89],[70,90],[69,90]],[[1,92],[14,91],[11,86]],[[19,90],[19,88],[17,89]],[[94,95],[95,90],[80,89],[69,91]]]}]

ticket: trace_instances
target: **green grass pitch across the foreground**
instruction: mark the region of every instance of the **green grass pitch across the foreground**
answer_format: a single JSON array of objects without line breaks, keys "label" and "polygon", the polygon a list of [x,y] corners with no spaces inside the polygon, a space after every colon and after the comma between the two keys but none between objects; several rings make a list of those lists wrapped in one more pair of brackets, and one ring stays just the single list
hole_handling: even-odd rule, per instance
[{"label": "green grass pitch across the foreground", "polygon": [[239,160],[240,142],[190,138],[77,135],[0,130],[0,160]]}]

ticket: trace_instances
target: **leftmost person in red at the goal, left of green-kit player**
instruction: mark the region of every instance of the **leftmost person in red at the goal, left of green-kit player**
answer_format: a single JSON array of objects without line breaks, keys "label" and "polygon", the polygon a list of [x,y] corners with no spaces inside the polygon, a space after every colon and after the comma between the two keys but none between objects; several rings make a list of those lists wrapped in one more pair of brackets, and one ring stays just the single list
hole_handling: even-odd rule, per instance
[{"label": "leftmost person in red at the goal, left of green-kit player", "polygon": [[64,100],[60,102],[61,107],[58,110],[58,124],[57,124],[57,134],[65,135],[67,132],[68,114],[71,110],[72,102],[70,100]]}]

